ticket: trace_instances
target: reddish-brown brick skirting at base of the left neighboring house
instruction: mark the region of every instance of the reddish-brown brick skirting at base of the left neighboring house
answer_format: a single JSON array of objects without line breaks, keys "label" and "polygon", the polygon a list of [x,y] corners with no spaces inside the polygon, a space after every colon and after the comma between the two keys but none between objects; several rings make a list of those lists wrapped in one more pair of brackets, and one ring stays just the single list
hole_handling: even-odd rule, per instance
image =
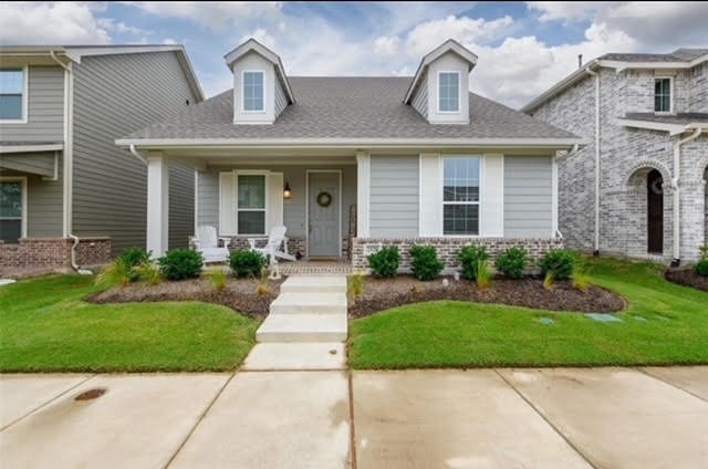
[{"label": "reddish-brown brick skirting at base of the left neighboring house", "polygon": [[[22,238],[17,244],[0,241],[0,268],[6,269],[69,269],[70,238]],[[80,238],[76,247],[79,265],[96,265],[111,260],[111,238]]]}]

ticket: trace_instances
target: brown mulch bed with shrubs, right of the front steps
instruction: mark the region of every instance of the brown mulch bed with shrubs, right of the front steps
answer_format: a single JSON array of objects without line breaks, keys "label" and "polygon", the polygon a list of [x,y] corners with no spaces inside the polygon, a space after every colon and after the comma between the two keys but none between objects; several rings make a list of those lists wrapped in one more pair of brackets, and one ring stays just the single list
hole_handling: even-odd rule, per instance
[{"label": "brown mulch bed with shrubs, right of the front steps", "polygon": [[410,275],[398,275],[394,279],[366,278],[362,294],[350,300],[348,313],[351,317],[362,317],[402,304],[436,300],[585,313],[613,313],[626,306],[617,293],[594,285],[579,291],[569,281],[555,282],[551,290],[546,290],[543,281],[537,278],[497,278],[489,289],[480,290],[473,282],[455,281],[452,278],[448,278],[448,286],[444,286],[441,279],[421,282]]}]

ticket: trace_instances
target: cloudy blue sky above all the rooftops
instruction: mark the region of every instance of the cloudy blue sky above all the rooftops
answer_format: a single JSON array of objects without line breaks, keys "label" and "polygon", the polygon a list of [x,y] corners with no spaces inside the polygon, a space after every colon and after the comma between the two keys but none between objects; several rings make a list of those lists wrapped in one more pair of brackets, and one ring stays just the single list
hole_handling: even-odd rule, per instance
[{"label": "cloudy blue sky above all the rooftops", "polygon": [[207,96],[248,38],[289,75],[413,75],[452,38],[478,55],[472,92],[520,107],[607,52],[708,46],[708,2],[0,2],[0,44],[187,49]]}]

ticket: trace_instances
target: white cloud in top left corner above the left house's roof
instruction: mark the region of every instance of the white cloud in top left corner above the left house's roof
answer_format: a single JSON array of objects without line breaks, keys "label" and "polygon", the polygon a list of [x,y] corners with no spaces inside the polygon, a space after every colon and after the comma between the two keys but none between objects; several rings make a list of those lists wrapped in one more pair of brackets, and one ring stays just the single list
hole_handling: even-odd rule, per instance
[{"label": "white cloud in top left corner above the left house's roof", "polygon": [[106,44],[111,37],[86,3],[0,2],[1,44]]}]

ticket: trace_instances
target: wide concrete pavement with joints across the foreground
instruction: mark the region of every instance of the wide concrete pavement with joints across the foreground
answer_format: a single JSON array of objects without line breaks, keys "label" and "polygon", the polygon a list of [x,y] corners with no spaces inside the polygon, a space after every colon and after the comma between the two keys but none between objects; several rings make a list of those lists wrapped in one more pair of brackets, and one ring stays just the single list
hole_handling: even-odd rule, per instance
[{"label": "wide concrete pavement with joints across the foreground", "polygon": [[700,468],[708,367],[0,375],[0,428],[3,468]]}]

